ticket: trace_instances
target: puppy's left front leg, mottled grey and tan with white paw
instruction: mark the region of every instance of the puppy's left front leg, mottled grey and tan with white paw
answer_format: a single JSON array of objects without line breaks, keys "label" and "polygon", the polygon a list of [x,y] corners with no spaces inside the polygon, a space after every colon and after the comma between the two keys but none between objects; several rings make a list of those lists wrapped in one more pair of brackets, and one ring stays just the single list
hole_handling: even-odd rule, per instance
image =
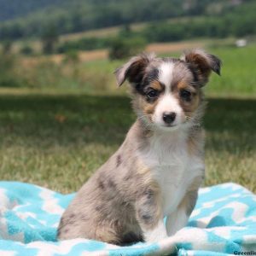
[{"label": "puppy's left front leg, mottled grey and tan with white paw", "polygon": [[148,188],[139,196],[136,213],[138,223],[143,230],[144,241],[160,241],[167,237],[158,189]]}]

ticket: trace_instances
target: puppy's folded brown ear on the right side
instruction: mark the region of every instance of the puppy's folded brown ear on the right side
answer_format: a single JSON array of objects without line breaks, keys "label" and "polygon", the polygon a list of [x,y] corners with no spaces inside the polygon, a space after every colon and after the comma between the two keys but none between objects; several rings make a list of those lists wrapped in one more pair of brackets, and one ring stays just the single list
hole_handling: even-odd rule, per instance
[{"label": "puppy's folded brown ear on the right side", "polygon": [[201,86],[207,84],[212,71],[220,75],[221,61],[217,56],[208,54],[202,49],[186,52],[181,60],[189,65],[189,68],[195,74],[195,79]]}]

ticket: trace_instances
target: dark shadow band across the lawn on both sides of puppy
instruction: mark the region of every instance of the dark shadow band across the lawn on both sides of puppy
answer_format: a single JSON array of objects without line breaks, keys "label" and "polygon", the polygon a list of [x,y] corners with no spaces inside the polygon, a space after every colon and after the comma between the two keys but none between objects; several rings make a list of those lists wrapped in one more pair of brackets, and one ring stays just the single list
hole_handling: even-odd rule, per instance
[{"label": "dark shadow band across the lawn on both sides of puppy", "polygon": [[[255,144],[253,99],[210,99],[205,126],[212,134],[228,134],[243,146]],[[53,143],[119,144],[135,119],[125,96],[0,96],[0,139],[9,143],[21,139],[38,147]],[[241,143],[241,137],[246,137]],[[232,148],[230,148],[232,150]]]}]

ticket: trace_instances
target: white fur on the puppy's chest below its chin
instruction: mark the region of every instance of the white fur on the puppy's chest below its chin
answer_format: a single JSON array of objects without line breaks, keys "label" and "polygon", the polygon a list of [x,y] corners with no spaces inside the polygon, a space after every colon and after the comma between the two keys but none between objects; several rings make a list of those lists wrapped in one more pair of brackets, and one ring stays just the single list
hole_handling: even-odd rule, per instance
[{"label": "white fur on the puppy's chest below its chin", "polygon": [[203,160],[189,154],[187,138],[180,131],[156,134],[143,153],[143,161],[160,184],[163,213],[174,211],[195,177],[202,175]]}]

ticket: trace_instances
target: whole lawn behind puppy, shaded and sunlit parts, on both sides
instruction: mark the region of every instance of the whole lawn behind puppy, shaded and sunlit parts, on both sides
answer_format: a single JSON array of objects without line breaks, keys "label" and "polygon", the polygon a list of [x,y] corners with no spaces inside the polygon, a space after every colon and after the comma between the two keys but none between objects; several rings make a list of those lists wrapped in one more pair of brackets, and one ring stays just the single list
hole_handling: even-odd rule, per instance
[{"label": "whole lawn behind puppy, shaded and sunlit parts, on both sides", "polygon": [[[0,95],[2,180],[71,192],[122,143],[135,119],[126,96]],[[256,192],[256,98],[209,100],[206,184]]]}]

